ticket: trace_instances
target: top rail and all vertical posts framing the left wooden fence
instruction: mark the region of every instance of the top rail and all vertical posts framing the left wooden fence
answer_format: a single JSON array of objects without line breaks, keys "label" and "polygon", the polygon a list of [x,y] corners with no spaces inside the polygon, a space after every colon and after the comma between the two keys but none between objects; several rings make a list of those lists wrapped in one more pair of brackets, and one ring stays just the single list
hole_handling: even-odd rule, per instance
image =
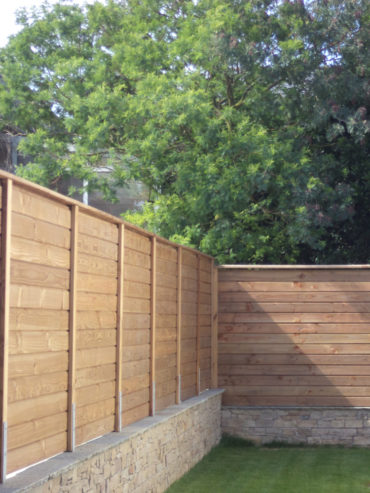
[{"label": "top rail and all vertical posts framing the left wooden fence", "polygon": [[75,449],[75,419],[76,419],[76,291],[77,291],[77,236],[79,229],[80,212],[90,216],[103,219],[106,222],[115,224],[119,230],[118,240],[118,306],[117,306],[117,341],[116,341],[116,405],[115,405],[115,426],[114,430],[119,432],[122,429],[122,327],[124,321],[123,314],[123,284],[124,284],[124,241],[126,230],[131,230],[151,239],[152,244],[152,266],[151,266],[151,368],[150,368],[150,414],[156,412],[156,391],[155,391],[155,329],[156,329],[156,251],[157,243],[168,244],[177,249],[178,259],[178,280],[177,280],[177,321],[176,321],[176,403],[181,402],[181,301],[182,301],[182,273],[181,260],[184,250],[191,251],[197,255],[197,275],[198,275],[198,302],[197,302],[197,393],[200,393],[200,259],[211,260],[211,387],[217,386],[217,269],[214,260],[209,255],[200,253],[187,246],[177,245],[169,240],[159,237],[154,233],[145,231],[133,224],[127,223],[118,217],[114,217],[105,212],[99,211],[88,205],[82,204],[72,198],[61,195],[52,190],[46,189],[10,173],[0,171],[0,184],[2,187],[2,210],[1,210],[1,299],[0,303],[0,337],[1,337],[1,420],[0,430],[1,458],[0,458],[0,481],[4,482],[7,474],[7,422],[8,422],[8,353],[9,353],[9,313],[10,313],[10,240],[11,240],[11,213],[12,213],[12,188],[13,184],[21,189],[36,193],[41,197],[52,199],[60,204],[66,205],[71,210],[71,248],[70,248],[70,285],[69,285],[69,356],[68,356],[68,409],[67,409],[67,450]]}]

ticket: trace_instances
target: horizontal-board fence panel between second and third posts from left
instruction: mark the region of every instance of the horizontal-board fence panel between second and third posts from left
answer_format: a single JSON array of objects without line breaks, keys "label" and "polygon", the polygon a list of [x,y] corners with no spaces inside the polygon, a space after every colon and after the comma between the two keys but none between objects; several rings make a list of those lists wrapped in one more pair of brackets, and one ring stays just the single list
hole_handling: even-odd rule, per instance
[{"label": "horizontal-board fence panel between second and third posts from left", "polygon": [[114,429],[118,226],[77,222],[76,445]]}]

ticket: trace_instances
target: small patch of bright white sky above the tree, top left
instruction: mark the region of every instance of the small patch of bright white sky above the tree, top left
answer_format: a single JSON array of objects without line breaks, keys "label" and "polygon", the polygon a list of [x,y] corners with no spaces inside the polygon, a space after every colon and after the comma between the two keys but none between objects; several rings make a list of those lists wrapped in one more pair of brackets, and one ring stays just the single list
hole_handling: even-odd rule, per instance
[{"label": "small patch of bright white sky above the tree, top left", "polygon": [[[8,36],[16,34],[20,26],[17,26],[15,22],[15,12],[22,7],[39,6],[43,3],[43,0],[3,0],[0,7],[0,47],[3,47],[8,42]],[[58,0],[49,0],[49,3],[58,3]],[[69,3],[78,3],[83,5],[85,3],[92,3],[84,0],[74,0]]]}]

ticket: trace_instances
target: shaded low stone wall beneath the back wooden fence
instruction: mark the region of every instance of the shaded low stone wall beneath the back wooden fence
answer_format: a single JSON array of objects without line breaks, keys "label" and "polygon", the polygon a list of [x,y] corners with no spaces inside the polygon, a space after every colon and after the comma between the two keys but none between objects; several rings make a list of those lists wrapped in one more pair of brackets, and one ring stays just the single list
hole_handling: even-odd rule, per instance
[{"label": "shaded low stone wall beneath the back wooden fence", "polygon": [[370,408],[224,407],[222,432],[256,443],[370,446]]}]

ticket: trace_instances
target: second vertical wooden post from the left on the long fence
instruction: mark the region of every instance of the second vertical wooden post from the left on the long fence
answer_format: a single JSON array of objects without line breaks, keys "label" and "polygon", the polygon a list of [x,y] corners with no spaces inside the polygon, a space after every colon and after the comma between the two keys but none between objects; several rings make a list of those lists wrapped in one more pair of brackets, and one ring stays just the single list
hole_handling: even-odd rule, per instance
[{"label": "second vertical wooden post from the left on the long fence", "polygon": [[68,425],[67,450],[76,446],[76,306],[77,306],[77,251],[79,206],[71,206],[71,270],[69,279],[69,353],[68,353]]}]

